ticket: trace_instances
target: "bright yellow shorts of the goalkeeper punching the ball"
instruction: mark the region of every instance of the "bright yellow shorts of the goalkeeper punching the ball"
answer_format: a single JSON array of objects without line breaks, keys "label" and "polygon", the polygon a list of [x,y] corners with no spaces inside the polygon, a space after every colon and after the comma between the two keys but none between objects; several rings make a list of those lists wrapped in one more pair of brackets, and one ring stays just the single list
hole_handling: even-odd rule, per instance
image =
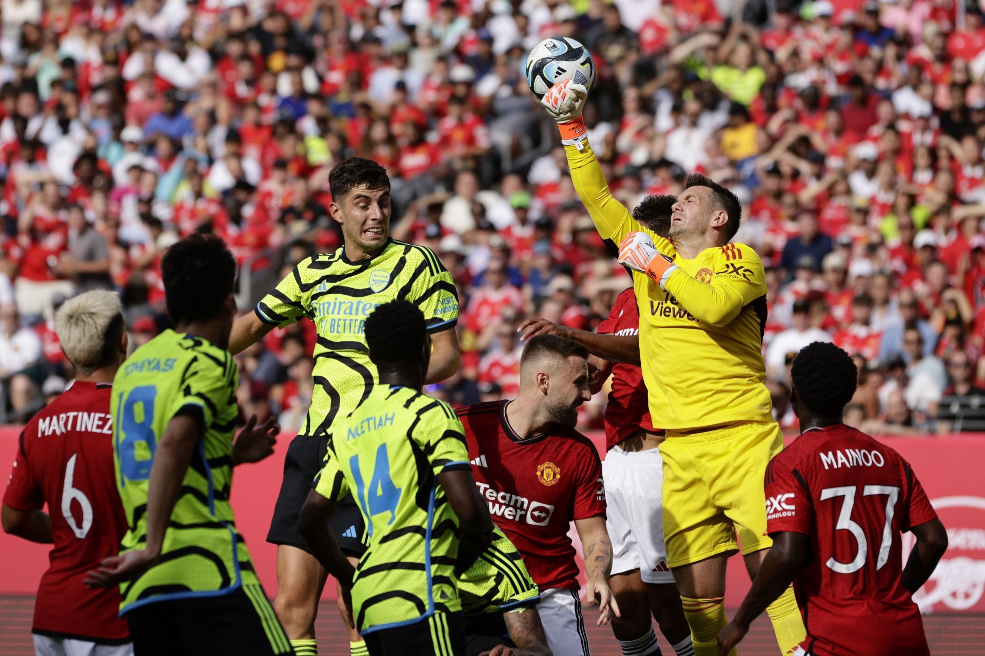
[{"label": "bright yellow shorts of the goalkeeper punching the ball", "polygon": [[[664,541],[667,565],[716,554],[752,554],[773,544],[766,535],[763,474],[783,449],[776,422],[741,422],[706,433],[667,432]],[[739,542],[736,541],[739,534]]]}]

